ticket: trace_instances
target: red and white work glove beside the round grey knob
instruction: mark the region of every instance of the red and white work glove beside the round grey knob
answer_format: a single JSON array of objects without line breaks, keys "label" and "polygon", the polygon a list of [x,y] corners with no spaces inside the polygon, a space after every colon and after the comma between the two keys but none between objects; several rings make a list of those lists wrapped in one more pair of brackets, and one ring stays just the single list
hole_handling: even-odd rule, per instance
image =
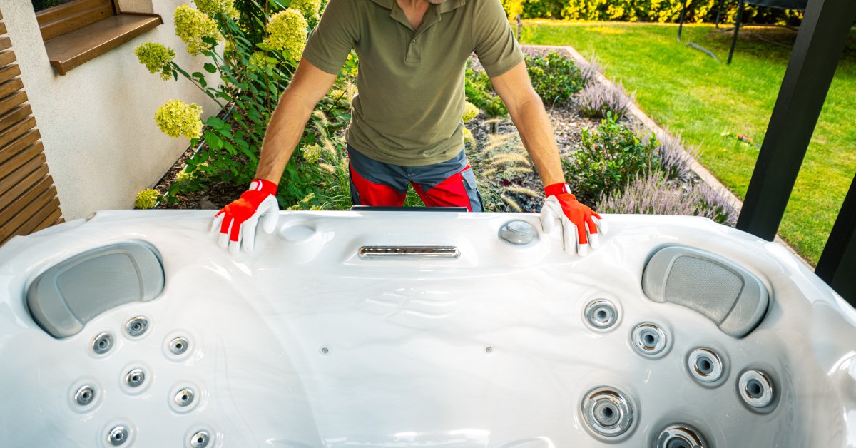
[{"label": "red and white work glove beside the round grey knob", "polygon": [[591,208],[582,204],[567,183],[554,183],[544,188],[547,200],[541,209],[541,225],[550,232],[556,220],[562,224],[562,239],[568,254],[588,254],[588,248],[597,248],[597,234],[606,234],[603,219]]}]

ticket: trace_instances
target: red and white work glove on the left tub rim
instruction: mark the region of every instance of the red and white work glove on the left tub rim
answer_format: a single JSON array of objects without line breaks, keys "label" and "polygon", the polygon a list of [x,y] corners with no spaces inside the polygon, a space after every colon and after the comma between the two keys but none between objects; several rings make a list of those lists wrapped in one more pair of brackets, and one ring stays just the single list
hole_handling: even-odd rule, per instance
[{"label": "red and white work glove on the left tub rim", "polygon": [[276,203],[276,183],[256,179],[250,188],[241,194],[223,210],[217,212],[211,221],[210,231],[220,230],[217,240],[221,248],[229,246],[229,252],[237,254],[239,250],[249,252],[256,245],[256,226],[262,220],[262,230],[273,233],[279,219],[279,205]]}]

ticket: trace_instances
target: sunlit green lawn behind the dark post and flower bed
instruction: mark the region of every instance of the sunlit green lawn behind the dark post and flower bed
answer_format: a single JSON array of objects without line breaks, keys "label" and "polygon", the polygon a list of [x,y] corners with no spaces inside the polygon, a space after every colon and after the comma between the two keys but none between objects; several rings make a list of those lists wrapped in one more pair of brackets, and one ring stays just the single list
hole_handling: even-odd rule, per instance
[{"label": "sunlit green lawn behind the dark post and flower bed", "polygon": [[[758,144],[764,139],[796,33],[741,30],[728,66],[724,59],[731,34],[712,25],[685,26],[683,41],[713,51],[722,63],[677,42],[675,25],[533,21],[530,28],[523,33],[526,44],[571,45],[586,57],[594,51],[607,77],[635,91],[637,103],[654,121],[700,146],[700,162],[744,197],[758,148],[722,133],[745,134]],[[839,63],[779,229],[812,263],[823,251],[856,173],[854,107],[856,32]]]}]

